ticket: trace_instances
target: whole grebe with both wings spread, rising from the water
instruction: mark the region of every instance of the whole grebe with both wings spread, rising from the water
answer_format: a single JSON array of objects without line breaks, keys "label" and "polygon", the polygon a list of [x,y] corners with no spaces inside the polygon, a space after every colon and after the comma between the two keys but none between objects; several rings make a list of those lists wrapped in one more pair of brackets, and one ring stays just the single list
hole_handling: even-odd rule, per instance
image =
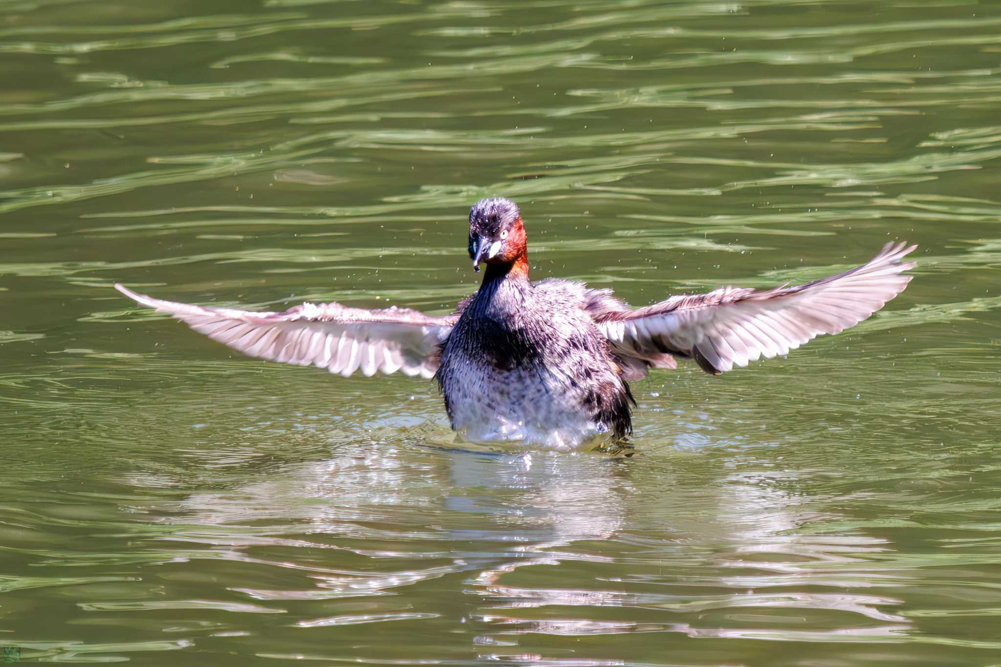
[{"label": "whole grebe with both wings spread, rising from the water", "polygon": [[433,378],[453,430],[472,443],[578,450],[626,441],[630,382],[691,360],[711,375],[786,355],[858,324],[911,280],[917,246],[890,242],[856,268],[803,285],[723,287],[632,308],[611,289],[529,277],[521,211],[503,197],[469,212],[468,253],[482,282],[454,312],[302,303],[257,312],[155,299],[137,303],[250,357]]}]

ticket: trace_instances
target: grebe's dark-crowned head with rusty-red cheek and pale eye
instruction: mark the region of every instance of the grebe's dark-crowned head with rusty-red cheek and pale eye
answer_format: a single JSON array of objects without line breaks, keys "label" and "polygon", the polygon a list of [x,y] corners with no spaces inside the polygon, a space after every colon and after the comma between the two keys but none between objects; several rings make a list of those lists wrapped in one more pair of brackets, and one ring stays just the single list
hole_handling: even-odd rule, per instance
[{"label": "grebe's dark-crowned head with rusty-red cheek and pale eye", "polygon": [[510,199],[480,199],[469,211],[469,258],[481,263],[513,264],[527,255],[525,225]]}]

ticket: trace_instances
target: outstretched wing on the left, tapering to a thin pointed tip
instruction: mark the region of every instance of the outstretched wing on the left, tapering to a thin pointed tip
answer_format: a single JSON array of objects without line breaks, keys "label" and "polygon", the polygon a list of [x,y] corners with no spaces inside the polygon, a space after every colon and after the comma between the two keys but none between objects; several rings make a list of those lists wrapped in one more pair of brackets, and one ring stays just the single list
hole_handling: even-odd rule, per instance
[{"label": "outstretched wing on the left, tapering to a thin pointed tip", "polygon": [[213,308],[153,299],[115,285],[138,303],[170,313],[212,340],[251,357],[298,366],[315,365],[347,377],[357,369],[429,378],[438,367],[438,345],[455,316],[428,317],[415,310],[365,310],[339,303],[303,303],[283,313]]}]

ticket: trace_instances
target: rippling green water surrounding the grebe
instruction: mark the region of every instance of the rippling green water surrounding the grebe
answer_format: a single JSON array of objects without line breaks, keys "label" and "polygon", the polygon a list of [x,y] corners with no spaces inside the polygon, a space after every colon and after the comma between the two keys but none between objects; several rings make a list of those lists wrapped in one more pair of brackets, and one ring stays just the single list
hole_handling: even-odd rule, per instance
[{"label": "rippling green water surrounding the grebe", "polygon": [[[1001,4],[0,0],[0,91],[5,661],[1001,664]],[[487,194],[636,305],[920,265],[618,459],[110,289],[447,312]]]}]

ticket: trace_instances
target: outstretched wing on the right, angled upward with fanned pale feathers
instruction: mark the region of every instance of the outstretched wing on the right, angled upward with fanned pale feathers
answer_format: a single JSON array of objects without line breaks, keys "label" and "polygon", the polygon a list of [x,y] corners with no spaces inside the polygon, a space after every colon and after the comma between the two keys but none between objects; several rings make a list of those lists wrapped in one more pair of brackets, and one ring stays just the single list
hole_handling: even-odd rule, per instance
[{"label": "outstretched wing on the right, angled upward with fanned pale feathers", "polygon": [[678,354],[718,375],[866,319],[910,282],[901,272],[915,263],[901,260],[916,247],[887,243],[868,263],[806,285],[724,287],[638,310],[605,311],[595,320],[622,358],[663,367],[665,355]]}]

